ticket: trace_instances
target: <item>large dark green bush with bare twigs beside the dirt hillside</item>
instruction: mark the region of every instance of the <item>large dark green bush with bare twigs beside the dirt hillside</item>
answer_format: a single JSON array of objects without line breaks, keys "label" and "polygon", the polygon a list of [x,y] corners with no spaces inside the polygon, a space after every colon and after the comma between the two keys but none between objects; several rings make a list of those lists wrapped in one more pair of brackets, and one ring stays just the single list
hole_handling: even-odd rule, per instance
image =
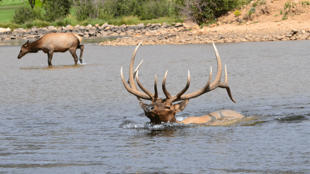
[{"label": "large dark green bush with bare twigs beside the dirt hillside", "polygon": [[249,0],[172,0],[172,12],[187,17],[196,24],[203,24],[237,8]]}]

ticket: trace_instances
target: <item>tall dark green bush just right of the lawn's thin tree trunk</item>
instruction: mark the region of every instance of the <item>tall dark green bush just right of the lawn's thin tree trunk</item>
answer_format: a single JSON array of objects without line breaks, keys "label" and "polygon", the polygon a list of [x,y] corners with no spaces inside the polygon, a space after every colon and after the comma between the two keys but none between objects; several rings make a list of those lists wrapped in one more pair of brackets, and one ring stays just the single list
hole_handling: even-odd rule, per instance
[{"label": "tall dark green bush just right of the lawn's thin tree trunk", "polygon": [[52,22],[57,19],[64,19],[70,14],[71,0],[42,0],[42,7],[45,9],[45,20]]}]

